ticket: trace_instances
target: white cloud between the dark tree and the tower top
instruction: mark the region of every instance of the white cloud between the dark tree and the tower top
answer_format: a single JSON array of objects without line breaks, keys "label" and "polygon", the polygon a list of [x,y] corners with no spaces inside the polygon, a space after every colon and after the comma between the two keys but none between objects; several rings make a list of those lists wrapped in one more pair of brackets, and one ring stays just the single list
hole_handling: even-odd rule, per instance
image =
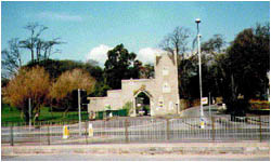
[{"label": "white cloud between the dark tree and the tower top", "polygon": [[154,64],[155,56],[160,55],[165,51],[160,49],[153,49],[153,48],[144,48],[140,49],[138,52],[138,59],[141,60],[144,64]]}]

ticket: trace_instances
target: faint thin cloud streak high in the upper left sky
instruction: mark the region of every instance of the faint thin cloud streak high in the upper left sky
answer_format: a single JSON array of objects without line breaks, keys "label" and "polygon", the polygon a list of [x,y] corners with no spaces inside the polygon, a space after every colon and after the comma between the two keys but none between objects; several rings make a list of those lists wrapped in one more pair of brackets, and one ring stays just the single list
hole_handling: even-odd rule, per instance
[{"label": "faint thin cloud streak high in the upper left sky", "polygon": [[79,15],[72,15],[66,13],[55,13],[55,12],[41,12],[37,14],[39,18],[47,18],[52,21],[68,21],[68,22],[80,22],[82,17]]}]

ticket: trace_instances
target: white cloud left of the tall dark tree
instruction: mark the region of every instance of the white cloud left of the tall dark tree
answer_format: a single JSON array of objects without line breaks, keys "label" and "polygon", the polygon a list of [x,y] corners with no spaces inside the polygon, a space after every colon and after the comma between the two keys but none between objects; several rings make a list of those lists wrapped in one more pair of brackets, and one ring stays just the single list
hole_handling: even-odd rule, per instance
[{"label": "white cloud left of the tall dark tree", "polygon": [[87,54],[87,60],[93,59],[99,63],[100,66],[104,66],[105,60],[107,59],[107,52],[112,50],[113,48],[109,48],[104,44],[100,44],[99,46],[93,48],[88,54]]}]

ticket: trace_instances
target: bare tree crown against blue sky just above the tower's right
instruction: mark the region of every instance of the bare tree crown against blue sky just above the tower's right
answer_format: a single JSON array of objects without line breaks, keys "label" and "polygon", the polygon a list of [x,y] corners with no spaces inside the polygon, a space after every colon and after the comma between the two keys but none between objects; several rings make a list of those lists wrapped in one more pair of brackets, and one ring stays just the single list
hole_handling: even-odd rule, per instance
[{"label": "bare tree crown against blue sky just above the tower's right", "polygon": [[160,42],[159,46],[173,54],[173,51],[177,54],[181,55],[183,58],[183,54],[188,50],[188,39],[190,38],[190,30],[184,27],[176,27],[171,33],[168,33],[163,41]]}]

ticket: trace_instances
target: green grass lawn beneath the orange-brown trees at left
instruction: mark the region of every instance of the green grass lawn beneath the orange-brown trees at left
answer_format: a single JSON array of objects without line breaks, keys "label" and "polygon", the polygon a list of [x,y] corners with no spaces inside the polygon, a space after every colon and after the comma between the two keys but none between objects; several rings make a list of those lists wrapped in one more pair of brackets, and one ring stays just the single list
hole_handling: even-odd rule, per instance
[{"label": "green grass lawn beneath the orange-brown trees at left", "polygon": [[[81,120],[87,120],[87,111],[81,111]],[[42,107],[39,121],[70,121],[78,120],[78,111],[69,111],[64,117],[63,112],[51,112],[49,107]],[[24,116],[21,117],[21,111],[17,108],[10,107],[5,104],[2,104],[1,108],[1,122],[25,122]]]}]

